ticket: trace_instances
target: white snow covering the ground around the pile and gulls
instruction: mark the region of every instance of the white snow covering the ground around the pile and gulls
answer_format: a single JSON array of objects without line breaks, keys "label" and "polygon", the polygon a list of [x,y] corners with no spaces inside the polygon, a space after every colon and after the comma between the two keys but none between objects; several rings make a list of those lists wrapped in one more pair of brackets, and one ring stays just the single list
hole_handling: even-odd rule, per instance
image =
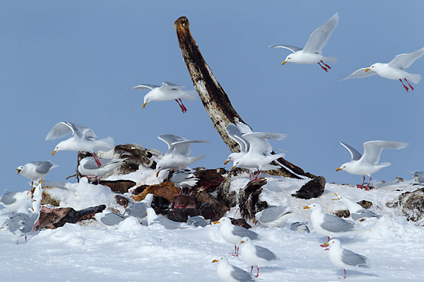
[{"label": "white snow covering the ground around the pile and gulls", "polygon": [[[131,178],[153,180],[140,173],[131,173]],[[349,281],[422,281],[424,229],[407,222],[399,209],[385,206],[385,202],[401,192],[416,190],[421,185],[408,180],[365,191],[352,185],[327,183],[324,195],[318,199],[300,200],[290,194],[307,180],[266,178],[268,183],[261,200],[290,205],[302,221],[308,221],[310,215],[302,207],[312,202],[321,203],[328,213],[343,209],[343,204],[331,200],[334,192],[354,201],[369,200],[374,204],[372,210],[383,215],[381,219],[361,222],[359,231],[341,237],[343,247],[371,261],[370,269],[348,271]],[[247,176],[237,176],[232,179],[232,189],[239,190],[248,181]],[[98,204],[87,200],[92,195],[113,205],[108,188],[84,182],[67,183],[66,188],[73,190],[73,197],[64,197],[64,206],[81,209]],[[6,209],[0,211],[0,223],[8,214]],[[240,217],[237,209],[228,215]],[[326,238],[310,228],[312,233],[290,231],[287,226],[255,226],[253,230],[261,239],[254,244],[269,248],[279,258],[260,269],[257,281],[339,281],[343,269],[331,264],[328,252],[319,247]],[[21,239],[19,245],[3,228],[0,246],[0,281],[218,281],[216,265],[211,261],[221,255],[227,256],[231,264],[250,269],[240,258],[231,257],[233,246],[220,237],[218,226],[213,225],[168,231],[158,225],[141,226],[129,218],[116,230],[107,230],[90,220],[38,231],[28,237],[28,243]]]}]

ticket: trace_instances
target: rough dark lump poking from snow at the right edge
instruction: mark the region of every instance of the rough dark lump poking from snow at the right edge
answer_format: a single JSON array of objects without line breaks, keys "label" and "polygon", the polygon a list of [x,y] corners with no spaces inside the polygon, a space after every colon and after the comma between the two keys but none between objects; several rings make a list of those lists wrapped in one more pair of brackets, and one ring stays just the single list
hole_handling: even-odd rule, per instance
[{"label": "rough dark lump poking from snow at the right edge", "polygon": [[386,203],[387,207],[401,207],[402,213],[408,221],[424,219],[424,188],[413,192],[404,192],[396,199]]}]

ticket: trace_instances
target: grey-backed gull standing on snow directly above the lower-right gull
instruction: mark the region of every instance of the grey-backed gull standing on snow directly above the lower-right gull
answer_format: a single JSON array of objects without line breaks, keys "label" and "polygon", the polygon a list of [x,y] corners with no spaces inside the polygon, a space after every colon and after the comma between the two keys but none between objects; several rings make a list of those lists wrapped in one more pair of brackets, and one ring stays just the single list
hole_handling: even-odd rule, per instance
[{"label": "grey-backed gull standing on snow directly above the lower-right gull", "polygon": [[311,222],[315,231],[321,235],[330,237],[337,237],[347,231],[353,231],[355,223],[341,219],[334,214],[326,214],[322,211],[321,204],[310,204],[303,207],[304,209],[311,209]]}]

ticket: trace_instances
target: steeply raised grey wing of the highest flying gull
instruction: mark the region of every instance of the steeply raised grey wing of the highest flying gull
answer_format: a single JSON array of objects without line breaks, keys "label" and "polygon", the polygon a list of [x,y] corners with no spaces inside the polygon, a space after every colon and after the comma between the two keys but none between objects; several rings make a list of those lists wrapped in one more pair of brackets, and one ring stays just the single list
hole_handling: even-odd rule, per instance
[{"label": "steeply raised grey wing of the highest flying gull", "polygon": [[307,40],[303,51],[307,53],[321,54],[325,44],[329,41],[331,33],[336,29],[338,24],[338,13],[335,13],[324,25],[318,27],[310,39]]}]

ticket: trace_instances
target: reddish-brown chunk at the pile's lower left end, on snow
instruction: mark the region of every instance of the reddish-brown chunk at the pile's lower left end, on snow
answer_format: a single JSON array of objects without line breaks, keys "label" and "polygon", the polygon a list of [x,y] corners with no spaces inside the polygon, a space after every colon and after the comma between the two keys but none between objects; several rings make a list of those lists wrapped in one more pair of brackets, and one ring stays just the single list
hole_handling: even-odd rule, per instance
[{"label": "reddish-brown chunk at the pile's lower left end, on snow", "polygon": [[78,216],[78,212],[71,207],[49,209],[43,206],[40,211],[40,219],[35,223],[34,230],[37,231],[41,228],[55,229],[64,226],[65,223],[76,223]]}]

